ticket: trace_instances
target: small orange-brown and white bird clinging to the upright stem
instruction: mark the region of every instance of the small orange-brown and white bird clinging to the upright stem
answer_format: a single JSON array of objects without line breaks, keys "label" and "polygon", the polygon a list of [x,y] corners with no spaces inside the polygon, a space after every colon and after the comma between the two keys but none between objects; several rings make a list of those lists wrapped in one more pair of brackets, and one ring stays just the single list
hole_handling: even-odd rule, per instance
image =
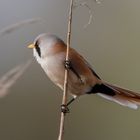
[{"label": "small orange-brown and white bird clinging to the upright stem", "polygon": [[[33,49],[35,59],[50,80],[63,90],[67,50],[65,42],[54,34],[43,33],[28,48]],[[91,94],[132,109],[140,105],[139,93],[102,80],[87,60],[72,47],[69,49],[68,94],[73,98],[67,105],[81,95]]]}]

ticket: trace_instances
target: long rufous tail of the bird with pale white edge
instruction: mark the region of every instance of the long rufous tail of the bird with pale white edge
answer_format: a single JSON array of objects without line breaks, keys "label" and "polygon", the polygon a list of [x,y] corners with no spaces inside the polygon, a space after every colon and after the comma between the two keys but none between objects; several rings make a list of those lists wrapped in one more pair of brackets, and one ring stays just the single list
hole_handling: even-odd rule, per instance
[{"label": "long rufous tail of the bird with pale white edge", "polygon": [[103,85],[104,87],[108,88],[108,91],[109,89],[113,91],[114,94],[106,92],[97,93],[101,97],[114,101],[120,105],[130,107],[132,109],[137,109],[138,105],[140,105],[140,94],[115,85],[108,84],[106,82],[104,82]]}]

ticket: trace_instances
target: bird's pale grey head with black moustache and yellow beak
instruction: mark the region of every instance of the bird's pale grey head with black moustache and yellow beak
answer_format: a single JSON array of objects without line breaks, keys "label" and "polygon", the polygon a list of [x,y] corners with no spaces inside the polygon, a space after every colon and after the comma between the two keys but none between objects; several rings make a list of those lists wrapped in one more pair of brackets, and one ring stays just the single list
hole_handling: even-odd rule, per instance
[{"label": "bird's pale grey head with black moustache and yellow beak", "polygon": [[53,55],[65,46],[65,43],[56,35],[44,33],[37,36],[33,44],[30,44],[28,48],[33,49],[33,54],[38,60]]}]

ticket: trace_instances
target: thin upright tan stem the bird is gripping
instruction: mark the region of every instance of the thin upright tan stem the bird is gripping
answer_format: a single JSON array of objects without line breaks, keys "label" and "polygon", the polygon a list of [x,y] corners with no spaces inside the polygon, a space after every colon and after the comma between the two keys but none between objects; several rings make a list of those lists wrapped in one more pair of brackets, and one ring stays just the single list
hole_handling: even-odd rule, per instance
[{"label": "thin upright tan stem the bird is gripping", "polygon": [[[73,1],[74,0],[71,0],[71,2],[70,2],[70,10],[69,10],[66,61],[69,61]],[[68,74],[69,74],[68,69],[65,69],[64,92],[63,92],[63,98],[62,98],[62,105],[66,105],[66,103],[67,103]],[[62,140],[64,137],[64,122],[65,122],[65,113],[61,111],[61,120],[60,120],[60,129],[59,129],[58,140]]]}]

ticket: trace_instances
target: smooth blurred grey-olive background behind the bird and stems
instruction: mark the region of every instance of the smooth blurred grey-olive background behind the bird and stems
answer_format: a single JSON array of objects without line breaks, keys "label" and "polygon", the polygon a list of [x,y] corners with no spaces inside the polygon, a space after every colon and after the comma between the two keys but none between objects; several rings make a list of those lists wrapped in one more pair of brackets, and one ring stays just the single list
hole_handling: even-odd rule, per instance
[{"label": "smooth blurred grey-olive background behind the bird and stems", "polygon": [[[87,0],[74,10],[72,47],[108,82],[140,91],[140,1]],[[49,32],[66,41],[69,0],[1,0],[0,29],[30,18],[42,22],[26,25],[0,36],[0,76],[32,58],[26,46],[40,33]],[[33,63],[0,99],[1,140],[56,140],[62,91],[41,67]],[[96,95],[83,96],[70,106],[66,117],[66,140],[139,140],[140,109],[132,110]]]}]

